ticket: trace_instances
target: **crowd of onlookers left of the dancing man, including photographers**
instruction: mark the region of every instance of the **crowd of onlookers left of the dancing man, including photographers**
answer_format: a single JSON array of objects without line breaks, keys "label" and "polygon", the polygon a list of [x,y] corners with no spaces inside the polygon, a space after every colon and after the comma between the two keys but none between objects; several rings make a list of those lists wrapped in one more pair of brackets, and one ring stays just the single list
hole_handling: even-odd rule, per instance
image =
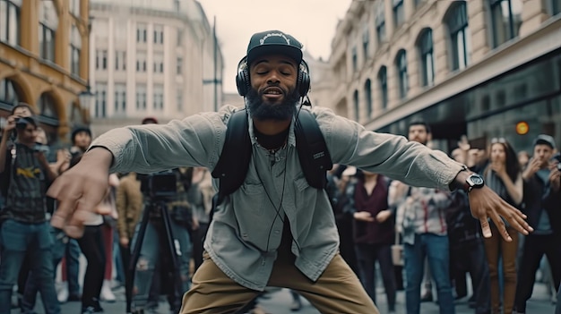
[{"label": "crowd of onlookers left of the dancing man, including photographers", "polygon": [[[142,123],[157,120],[150,117]],[[178,312],[193,268],[203,259],[201,239],[213,195],[209,171],[173,169],[167,178],[176,186],[163,199],[153,199],[142,186],[156,174],[110,174],[108,191],[97,208],[104,214],[84,217],[84,233],[74,239],[49,225],[56,200],[47,197],[47,188],[80,161],[91,140],[91,130],[79,126],[71,134],[71,147],[49,147],[32,107],[24,103],[14,106],[7,118],[0,144],[0,313],[13,308],[34,313],[38,292],[46,314],[60,313],[66,301],[81,302],[82,313],[102,312],[100,301],[116,301],[113,291],[120,286],[125,287],[131,312],[155,311],[161,295],[168,295],[171,312]],[[166,250],[168,230],[161,208],[170,217],[173,252]],[[145,233],[130,267],[144,210]],[[172,256],[177,268],[169,267]],[[81,260],[86,264],[79,278]],[[173,277],[180,280],[170,284]]]}]

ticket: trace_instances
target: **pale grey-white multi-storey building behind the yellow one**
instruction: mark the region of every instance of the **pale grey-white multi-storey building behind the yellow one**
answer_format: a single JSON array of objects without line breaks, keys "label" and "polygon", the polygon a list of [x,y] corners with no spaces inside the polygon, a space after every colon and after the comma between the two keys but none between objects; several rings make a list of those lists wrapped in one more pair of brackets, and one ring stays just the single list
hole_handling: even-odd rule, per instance
[{"label": "pale grey-white multi-storey building behind the yellow one", "polygon": [[220,106],[222,55],[197,1],[92,0],[91,16],[95,134]]}]

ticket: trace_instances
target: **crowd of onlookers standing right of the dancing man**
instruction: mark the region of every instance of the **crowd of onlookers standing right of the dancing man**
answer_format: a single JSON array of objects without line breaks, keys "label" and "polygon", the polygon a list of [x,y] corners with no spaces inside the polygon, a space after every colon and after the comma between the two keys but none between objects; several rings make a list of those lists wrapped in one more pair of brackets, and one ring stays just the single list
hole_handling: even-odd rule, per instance
[{"label": "crowd of onlookers standing right of the dancing man", "polygon": [[[430,126],[410,123],[409,140],[430,144]],[[341,255],[368,295],[375,301],[377,261],[389,313],[395,310],[396,291],[402,289],[407,313],[419,313],[423,301],[436,301],[441,313],[453,313],[454,302],[463,298],[477,314],[525,313],[538,274],[551,301],[557,301],[561,157],[553,137],[537,136],[531,154],[517,154],[505,138],[489,140],[487,149],[471,149],[462,139],[450,155],[520,208],[535,231],[523,235],[506,224],[512,241],[505,241],[490,222],[492,236],[484,238],[464,191],[411,187],[340,165],[331,176],[338,186],[332,199],[337,199],[333,209]]]}]

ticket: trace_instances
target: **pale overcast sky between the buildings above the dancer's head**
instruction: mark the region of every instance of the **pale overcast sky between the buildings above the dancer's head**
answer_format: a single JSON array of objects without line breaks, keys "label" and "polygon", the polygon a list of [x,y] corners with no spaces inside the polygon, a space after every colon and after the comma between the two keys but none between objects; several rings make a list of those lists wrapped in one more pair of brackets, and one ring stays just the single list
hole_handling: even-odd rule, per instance
[{"label": "pale overcast sky between the buildings above the dancer's head", "polygon": [[249,38],[263,30],[282,30],[297,38],[315,58],[327,60],[337,21],[351,0],[199,0],[224,56],[224,91],[237,92],[236,66],[246,55]]}]

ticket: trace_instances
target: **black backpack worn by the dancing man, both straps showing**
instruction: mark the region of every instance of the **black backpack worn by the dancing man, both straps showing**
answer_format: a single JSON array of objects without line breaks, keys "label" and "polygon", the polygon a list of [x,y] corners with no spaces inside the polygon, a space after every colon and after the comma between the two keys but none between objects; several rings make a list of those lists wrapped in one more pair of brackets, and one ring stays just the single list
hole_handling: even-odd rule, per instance
[{"label": "black backpack worn by the dancing man, both straps showing", "polygon": [[[211,173],[212,177],[220,180],[214,206],[236,191],[246,179],[252,152],[248,127],[246,109],[230,116],[222,153]],[[327,185],[327,170],[332,169],[333,164],[315,116],[308,110],[299,110],[294,132],[298,159],[306,181],[315,189],[324,189]]]}]

